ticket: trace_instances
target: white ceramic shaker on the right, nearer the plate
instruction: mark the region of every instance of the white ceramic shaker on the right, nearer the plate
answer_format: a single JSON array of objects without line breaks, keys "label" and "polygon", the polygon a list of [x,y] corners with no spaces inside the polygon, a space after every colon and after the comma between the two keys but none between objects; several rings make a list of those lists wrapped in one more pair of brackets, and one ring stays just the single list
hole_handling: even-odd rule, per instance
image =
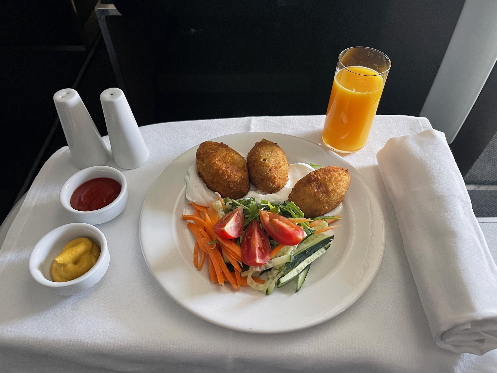
[{"label": "white ceramic shaker on the right, nearer the plate", "polygon": [[100,102],[114,162],[127,170],[142,166],[149,159],[149,150],[124,92],[109,88],[100,94]]}]

